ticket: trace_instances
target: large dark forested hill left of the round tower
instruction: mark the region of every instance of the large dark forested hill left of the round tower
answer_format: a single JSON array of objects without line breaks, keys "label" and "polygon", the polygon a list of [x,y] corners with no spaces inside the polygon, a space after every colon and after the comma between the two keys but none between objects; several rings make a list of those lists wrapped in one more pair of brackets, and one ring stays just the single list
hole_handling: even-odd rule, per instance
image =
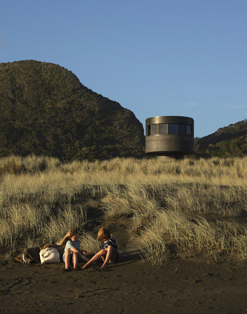
[{"label": "large dark forested hill left of the round tower", "polygon": [[35,60],[0,64],[0,156],[142,157],[144,146],[133,112],[88,89],[71,71]]}]

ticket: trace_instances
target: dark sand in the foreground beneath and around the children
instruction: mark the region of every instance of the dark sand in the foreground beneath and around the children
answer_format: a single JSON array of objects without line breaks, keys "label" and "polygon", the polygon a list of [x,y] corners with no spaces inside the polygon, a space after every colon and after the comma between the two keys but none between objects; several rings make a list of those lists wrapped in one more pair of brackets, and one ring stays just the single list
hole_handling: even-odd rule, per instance
[{"label": "dark sand in the foreground beneath and around the children", "polygon": [[121,261],[104,271],[99,270],[100,263],[64,273],[63,263],[27,265],[3,262],[2,258],[0,312],[247,312],[245,266],[209,264],[195,257],[173,258],[163,267],[143,264],[135,246],[136,235],[128,231],[131,223],[128,217],[91,220],[88,229],[95,236],[99,226],[105,225],[119,243]]}]

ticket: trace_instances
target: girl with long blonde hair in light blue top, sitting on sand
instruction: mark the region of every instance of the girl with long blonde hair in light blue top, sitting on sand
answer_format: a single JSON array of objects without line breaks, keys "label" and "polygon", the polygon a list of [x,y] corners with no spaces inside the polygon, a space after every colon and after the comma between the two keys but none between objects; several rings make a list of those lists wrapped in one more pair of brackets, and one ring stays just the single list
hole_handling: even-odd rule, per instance
[{"label": "girl with long blonde hair in light blue top, sitting on sand", "polygon": [[[74,270],[77,269],[77,263],[79,259],[79,263],[84,260],[85,262],[89,261],[89,258],[85,257],[83,254],[86,254],[86,250],[80,251],[80,241],[78,239],[78,231],[75,229],[70,229],[65,237],[57,243],[58,245],[64,246],[64,255],[63,255],[63,261],[65,262],[65,269],[64,271],[69,270],[69,263],[72,263],[74,265]],[[80,259],[82,259],[80,261]]]}]

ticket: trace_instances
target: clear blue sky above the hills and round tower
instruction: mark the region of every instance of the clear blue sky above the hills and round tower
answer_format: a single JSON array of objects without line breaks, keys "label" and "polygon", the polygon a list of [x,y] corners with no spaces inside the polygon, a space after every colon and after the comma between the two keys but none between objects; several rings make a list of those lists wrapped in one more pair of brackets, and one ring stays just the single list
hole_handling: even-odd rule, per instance
[{"label": "clear blue sky above the hills and round tower", "polygon": [[195,136],[247,118],[247,0],[0,0],[0,62],[33,59]]}]

